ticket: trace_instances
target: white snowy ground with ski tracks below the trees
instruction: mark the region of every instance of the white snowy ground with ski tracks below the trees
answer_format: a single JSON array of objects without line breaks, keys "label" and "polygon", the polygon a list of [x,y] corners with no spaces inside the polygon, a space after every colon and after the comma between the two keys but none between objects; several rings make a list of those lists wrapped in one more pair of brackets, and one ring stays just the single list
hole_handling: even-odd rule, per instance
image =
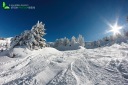
[{"label": "white snowy ground with ski tracks below the trees", "polygon": [[0,85],[128,85],[128,45],[58,51],[12,50],[0,56]]}]

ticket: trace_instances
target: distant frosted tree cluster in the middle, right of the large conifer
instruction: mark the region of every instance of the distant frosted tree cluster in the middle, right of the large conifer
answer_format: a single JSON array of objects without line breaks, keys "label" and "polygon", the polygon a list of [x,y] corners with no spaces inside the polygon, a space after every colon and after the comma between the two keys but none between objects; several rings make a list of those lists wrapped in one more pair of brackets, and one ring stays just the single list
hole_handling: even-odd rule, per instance
[{"label": "distant frosted tree cluster in the middle, right of the large conifer", "polygon": [[79,35],[78,38],[75,38],[74,36],[69,40],[68,38],[61,38],[61,39],[56,39],[54,43],[54,47],[60,47],[60,46],[85,46],[85,41],[84,37],[82,35]]}]

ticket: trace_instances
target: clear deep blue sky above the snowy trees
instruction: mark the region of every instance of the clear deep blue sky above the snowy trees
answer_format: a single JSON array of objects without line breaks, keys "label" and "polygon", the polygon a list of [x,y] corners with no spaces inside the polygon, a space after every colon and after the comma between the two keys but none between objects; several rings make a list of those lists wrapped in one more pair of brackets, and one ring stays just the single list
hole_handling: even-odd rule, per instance
[{"label": "clear deep blue sky above the snowy trees", "polygon": [[[86,41],[108,34],[105,19],[126,24],[128,0],[2,0],[7,4],[29,4],[35,10],[3,10],[0,8],[0,37],[13,37],[30,30],[37,21],[45,23],[47,41],[82,34]],[[2,4],[2,2],[0,2]]]}]

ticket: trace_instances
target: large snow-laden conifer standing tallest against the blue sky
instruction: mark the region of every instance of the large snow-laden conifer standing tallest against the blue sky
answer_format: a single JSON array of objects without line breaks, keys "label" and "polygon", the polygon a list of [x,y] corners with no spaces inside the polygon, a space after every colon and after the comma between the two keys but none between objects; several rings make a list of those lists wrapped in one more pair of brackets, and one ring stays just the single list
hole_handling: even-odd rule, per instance
[{"label": "large snow-laden conifer standing tallest against the blue sky", "polygon": [[44,24],[37,22],[31,30],[26,30],[19,36],[11,39],[11,48],[15,46],[26,46],[30,50],[40,49],[46,46],[45,39],[42,38],[46,33],[44,32]]}]

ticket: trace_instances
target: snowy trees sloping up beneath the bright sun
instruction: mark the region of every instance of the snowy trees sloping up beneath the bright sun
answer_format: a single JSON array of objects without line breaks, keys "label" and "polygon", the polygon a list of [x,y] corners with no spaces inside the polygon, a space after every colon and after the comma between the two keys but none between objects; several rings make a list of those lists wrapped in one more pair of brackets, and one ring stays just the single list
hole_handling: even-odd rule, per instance
[{"label": "snowy trees sloping up beneath the bright sun", "polygon": [[115,43],[121,42],[128,43],[128,31],[124,31],[121,34],[106,36],[102,39],[92,42],[86,42],[86,48],[97,48],[101,46],[111,46]]}]

